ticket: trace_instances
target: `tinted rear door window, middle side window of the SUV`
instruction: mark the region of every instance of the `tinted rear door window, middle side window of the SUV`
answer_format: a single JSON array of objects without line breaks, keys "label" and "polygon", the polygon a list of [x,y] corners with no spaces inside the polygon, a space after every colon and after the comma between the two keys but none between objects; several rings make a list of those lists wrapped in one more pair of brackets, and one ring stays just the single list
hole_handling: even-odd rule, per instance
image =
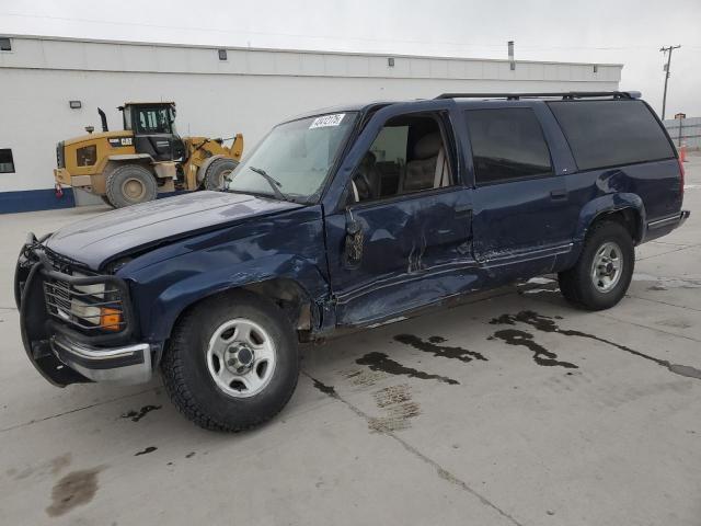
[{"label": "tinted rear door window, middle side window of the SUV", "polygon": [[552,174],[550,151],[531,108],[468,110],[466,118],[478,184]]}]

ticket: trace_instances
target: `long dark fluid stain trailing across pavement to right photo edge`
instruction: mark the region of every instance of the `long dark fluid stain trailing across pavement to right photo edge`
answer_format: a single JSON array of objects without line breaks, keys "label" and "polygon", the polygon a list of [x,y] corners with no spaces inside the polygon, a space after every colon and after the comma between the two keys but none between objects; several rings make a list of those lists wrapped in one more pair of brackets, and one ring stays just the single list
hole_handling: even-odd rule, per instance
[{"label": "long dark fluid stain trailing across pavement to right photo edge", "polygon": [[670,373],[674,373],[675,375],[685,376],[687,378],[696,378],[698,380],[701,380],[701,369],[691,367],[689,365],[673,364],[666,359],[656,358],[655,356],[651,356],[640,351],[635,351],[634,348],[631,348],[627,345],[621,345],[620,343],[612,342],[610,340],[597,336],[595,334],[588,334],[586,332],[572,330],[572,329],[561,329],[553,318],[539,315],[538,312],[535,312],[532,310],[521,310],[517,315],[502,315],[498,318],[494,318],[492,321],[490,321],[490,323],[494,325],[497,325],[497,324],[515,325],[516,322],[529,324],[542,332],[554,332],[558,334],[563,334],[565,336],[587,338],[589,340],[595,340],[597,342],[606,343],[607,345],[611,345],[620,351],[632,354],[633,356],[637,356],[640,358],[647,359],[654,364],[657,364],[660,367],[666,368]]}]

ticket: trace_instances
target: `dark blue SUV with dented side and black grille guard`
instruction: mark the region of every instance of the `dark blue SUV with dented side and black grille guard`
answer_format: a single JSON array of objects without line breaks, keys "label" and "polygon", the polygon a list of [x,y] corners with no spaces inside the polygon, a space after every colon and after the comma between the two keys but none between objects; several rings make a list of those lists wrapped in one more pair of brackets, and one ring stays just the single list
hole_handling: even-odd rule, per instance
[{"label": "dark blue SUV with dented side and black grille guard", "polygon": [[199,192],[22,249],[27,355],[57,385],[147,381],[212,430],[276,414],[298,343],[558,273],[597,310],[681,225],[683,171],[637,93],[449,93],[285,122]]}]

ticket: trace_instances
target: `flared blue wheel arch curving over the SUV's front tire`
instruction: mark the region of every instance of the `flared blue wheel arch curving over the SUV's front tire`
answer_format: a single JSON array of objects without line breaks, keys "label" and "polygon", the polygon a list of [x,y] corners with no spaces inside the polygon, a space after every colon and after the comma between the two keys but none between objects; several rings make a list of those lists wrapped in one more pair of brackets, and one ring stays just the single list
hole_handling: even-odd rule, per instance
[{"label": "flared blue wheel arch curving over the SUV's front tire", "polygon": [[175,320],[191,305],[211,295],[275,278],[297,283],[312,302],[327,295],[327,282],[315,262],[291,254],[275,254],[249,260],[233,267],[217,267],[199,272],[172,283],[151,301],[142,301],[143,338],[162,342],[170,338]]}]

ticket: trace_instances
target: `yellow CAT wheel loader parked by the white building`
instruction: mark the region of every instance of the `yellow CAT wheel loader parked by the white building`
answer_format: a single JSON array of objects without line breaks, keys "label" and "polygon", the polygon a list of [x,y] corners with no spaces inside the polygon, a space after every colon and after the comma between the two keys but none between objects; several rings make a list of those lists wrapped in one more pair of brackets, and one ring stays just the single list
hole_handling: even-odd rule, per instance
[{"label": "yellow CAT wheel loader parked by the white building", "polygon": [[162,192],[222,188],[241,159],[241,134],[232,137],[230,148],[220,138],[180,137],[174,102],[129,102],[119,110],[123,130],[110,132],[97,108],[102,133],[88,126],[88,135],[57,145],[57,193],[68,185],[120,208],[153,201]]}]

